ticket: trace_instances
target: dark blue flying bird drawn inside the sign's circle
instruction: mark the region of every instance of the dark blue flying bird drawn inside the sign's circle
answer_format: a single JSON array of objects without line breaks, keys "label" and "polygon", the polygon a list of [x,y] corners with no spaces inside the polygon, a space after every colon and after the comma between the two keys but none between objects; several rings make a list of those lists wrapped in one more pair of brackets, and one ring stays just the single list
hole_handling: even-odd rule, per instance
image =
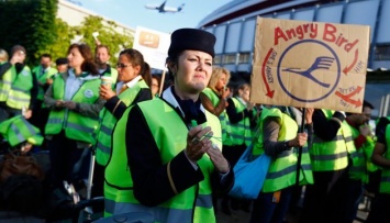
[{"label": "dark blue flying bird drawn inside the sign's circle", "polygon": [[316,79],[312,75],[312,71],[314,71],[316,69],[330,69],[330,67],[332,66],[333,62],[334,62],[333,57],[319,56],[319,57],[315,58],[315,62],[312,64],[312,66],[309,69],[307,69],[307,70],[300,70],[300,68],[287,68],[287,69],[282,69],[282,71],[289,71],[289,73],[301,75],[303,77],[307,77],[307,78],[313,80],[314,82],[319,83],[320,86],[322,86],[324,88],[328,88],[331,85],[322,82],[319,79]]}]

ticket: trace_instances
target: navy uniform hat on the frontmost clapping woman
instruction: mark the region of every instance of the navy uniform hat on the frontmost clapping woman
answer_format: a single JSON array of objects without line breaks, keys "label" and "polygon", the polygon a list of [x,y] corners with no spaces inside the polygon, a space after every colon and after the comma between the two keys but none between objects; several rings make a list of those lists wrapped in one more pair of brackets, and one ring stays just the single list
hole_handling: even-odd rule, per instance
[{"label": "navy uniform hat on the frontmost clapping woman", "polygon": [[215,36],[198,29],[179,29],[170,35],[168,56],[174,58],[186,49],[200,51],[210,54],[213,58]]}]

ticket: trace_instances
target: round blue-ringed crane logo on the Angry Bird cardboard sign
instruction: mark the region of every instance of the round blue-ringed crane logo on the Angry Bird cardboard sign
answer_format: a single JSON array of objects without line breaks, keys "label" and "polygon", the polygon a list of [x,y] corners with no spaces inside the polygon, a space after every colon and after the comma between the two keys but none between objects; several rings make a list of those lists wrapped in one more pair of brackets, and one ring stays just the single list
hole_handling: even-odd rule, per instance
[{"label": "round blue-ringed crane logo on the Angry Bird cardboard sign", "polygon": [[[310,54],[313,62],[308,60],[309,64],[305,64],[297,58],[297,55],[304,54]],[[305,103],[327,98],[341,80],[341,64],[336,52],[319,40],[292,43],[281,52],[277,67],[281,90],[291,99]]]}]

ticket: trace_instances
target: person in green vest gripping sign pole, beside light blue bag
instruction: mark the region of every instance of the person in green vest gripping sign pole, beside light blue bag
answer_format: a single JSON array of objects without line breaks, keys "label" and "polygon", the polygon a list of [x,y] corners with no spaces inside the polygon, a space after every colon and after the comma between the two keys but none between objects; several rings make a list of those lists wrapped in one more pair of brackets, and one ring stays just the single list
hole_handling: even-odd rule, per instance
[{"label": "person in green vest gripping sign pole, beside light blue bag", "polygon": [[[254,155],[267,154],[271,163],[260,193],[253,203],[250,223],[281,223],[297,187],[298,148],[302,146],[299,186],[313,183],[309,156],[313,134],[313,109],[302,111],[291,107],[267,109],[261,112],[260,134],[254,145]],[[299,126],[304,119],[304,133]],[[310,142],[310,140],[309,140]]]}]

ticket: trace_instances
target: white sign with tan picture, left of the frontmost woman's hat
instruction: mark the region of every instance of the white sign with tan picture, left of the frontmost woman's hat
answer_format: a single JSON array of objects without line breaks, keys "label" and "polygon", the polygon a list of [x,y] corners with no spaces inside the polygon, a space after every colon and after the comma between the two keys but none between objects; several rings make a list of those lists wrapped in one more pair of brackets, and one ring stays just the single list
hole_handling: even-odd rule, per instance
[{"label": "white sign with tan picture, left of the frontmost woman's hat", "polygon": [[133,48],[144,55],[144,59],[152,68],[167,70],[165,60],[168,57],[170,34],[136,27]]}]

